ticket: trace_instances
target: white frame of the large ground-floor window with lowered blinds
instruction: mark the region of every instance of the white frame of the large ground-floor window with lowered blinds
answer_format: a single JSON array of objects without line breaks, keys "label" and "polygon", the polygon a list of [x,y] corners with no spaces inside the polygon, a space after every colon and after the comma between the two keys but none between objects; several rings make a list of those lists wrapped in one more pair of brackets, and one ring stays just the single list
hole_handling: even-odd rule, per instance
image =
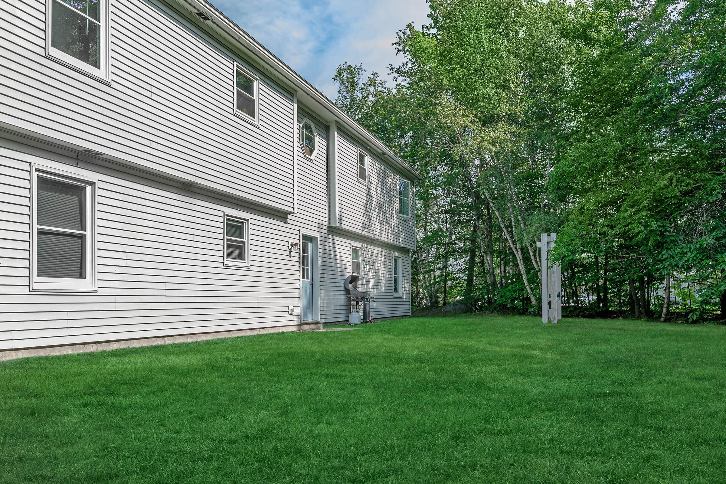
[{"label": "white frame of the large ground-floor window with lowered blinds", "polygon": [[[86,243],[83,247],[86,263],[84,279],[63,277],[38,277],[38,177],[54,179],[63,183],[86,187]],[[96,192],[97,180],[53,170],[46,167],[30,166],[30,290],[39,292],[97,292],[96,288]],[[41,227],[44,228],[44,227]],[[47,227],[65,233],[83,233],[57,227]]]}]

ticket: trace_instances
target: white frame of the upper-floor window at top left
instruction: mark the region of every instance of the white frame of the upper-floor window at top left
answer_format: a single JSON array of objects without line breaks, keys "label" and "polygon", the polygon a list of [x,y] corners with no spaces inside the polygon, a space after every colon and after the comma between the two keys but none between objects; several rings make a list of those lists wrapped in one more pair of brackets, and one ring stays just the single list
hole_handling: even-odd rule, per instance
[{"label": "white frame of the upper-floor window at top left", "polygon": [[[101,36],[100,36],[100,43],[99,46],[99,55],[101,56],[101,59],[99,60],[99,65],[101,66],[99,69],[96,67],[93,67],[92,65],[86,64],[86,62],[83,62],[82,60],[76,59],[76,57],[73,57],[70,54],[66,54],[60,49],[56,49],[54,46],[51,45],[52,41],[52,35],[53,35],[53,15],[52,15],[52,7],[53,4],[61,4],[64,5],[64,8],[73,9],[76,12],[78,12],[80,15],[83,15],[86,17],[86,15],[83,14],[83,12],[80,12],[77,9],[74,9],[73,7],[70,7],[68,4],[65,4],[65,2],[60,0],[46,0],[46,56],[52,58],[53,60],[57,60],[58,62],[62,62],[65,65],[68,65],[68,67],[72,67],[75,70],[81,71],[82,73],[89,74],[93,76],[94,78],[99,78],[101,81],[110,82],[111,81],[111,0],[99,0],[99,9],[101,9],[100,15],[99,15],[99,24],[101,25]],[[91,21],[96,22],[96,20],[91,19],[91,17],[87,17]]]}]

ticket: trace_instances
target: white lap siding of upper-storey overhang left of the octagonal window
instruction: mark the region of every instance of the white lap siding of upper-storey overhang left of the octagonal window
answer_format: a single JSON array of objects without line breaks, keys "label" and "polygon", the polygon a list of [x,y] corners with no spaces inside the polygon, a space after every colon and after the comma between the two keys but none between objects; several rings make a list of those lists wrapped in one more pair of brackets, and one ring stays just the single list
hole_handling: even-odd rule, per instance
[{"label": "white lap siding of upper-storey overhang left of the octagonal window", "polygon": [[[293,205],[290,93],[158,2],[114,0],[112,83],[45,56],[43,1],[0,2],[0,121],[282,209]],[[234,61],[260,77],[234,114]]]}]

